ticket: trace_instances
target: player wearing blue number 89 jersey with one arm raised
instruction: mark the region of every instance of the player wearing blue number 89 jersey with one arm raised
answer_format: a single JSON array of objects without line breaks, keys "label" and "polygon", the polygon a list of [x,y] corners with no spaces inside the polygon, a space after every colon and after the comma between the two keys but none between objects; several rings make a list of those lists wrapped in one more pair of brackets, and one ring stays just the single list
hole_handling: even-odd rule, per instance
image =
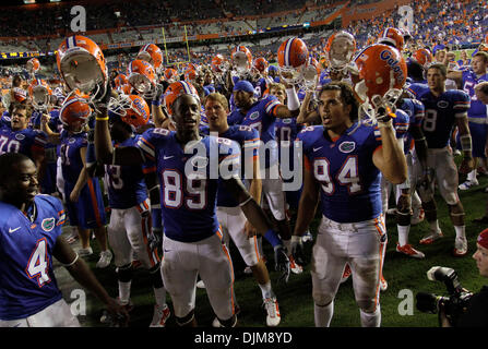
[{"label": "player wearing blue number 89 jersey with one arm raised", "polygon": [[[171,97],[166,96],[166,99],[172,100],[170,109],[176,132],[147,130],[136,146],[112,147],[108,117],[103,106],[98,106],[97,158],[110,165],[140,165],[151,160],[156,166],[164,221],[162,274],[171,296],[177,324],[197,325],[195,284],[200,275],[221,325],[235,326],[231,261],[222,243],[215,213],[219,179],[234,193],[251,225],[271,240],[276,266],[285,274],[289,273],[289,261],[282,241],[237,176],[239,154],[229,148],[231,141],[200,136],[201,106],[194,87],[177,91],[170,85],[168,88],[171,88]],[[210,156],[211,149],[216,154]]]}]

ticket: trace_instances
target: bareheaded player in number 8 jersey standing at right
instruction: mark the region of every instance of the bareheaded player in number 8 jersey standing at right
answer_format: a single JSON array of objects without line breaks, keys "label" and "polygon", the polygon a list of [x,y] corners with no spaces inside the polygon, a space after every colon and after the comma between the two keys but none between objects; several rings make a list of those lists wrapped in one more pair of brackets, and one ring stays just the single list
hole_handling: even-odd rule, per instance
[{"label": "bareheaded player in number 8 jersey standing at right", "polygon": [[437,219],[437,205],[433,198],[433,178],[436,177],[440,193],[449,206],[451,221],[455,229],[453,255],[464,256],[467,253],[464,208],[457,196],[457,168],[454,164],[449,140],[454,125],[457,125],[461,147],[464,156],[460,172],[467,173],[474,167],[472,156],[472,136],[467,123],[469,96],[460,89],[445,91],[445,65],[435,63],[427,70],[429,89],[419,99],[426,113],[422,131],[427,139],[427,168],[415,166],[415,179],[420,181],[419,195],[430,225],[430,232],[420,240],[421,244],[430,244],[443,237]]}]

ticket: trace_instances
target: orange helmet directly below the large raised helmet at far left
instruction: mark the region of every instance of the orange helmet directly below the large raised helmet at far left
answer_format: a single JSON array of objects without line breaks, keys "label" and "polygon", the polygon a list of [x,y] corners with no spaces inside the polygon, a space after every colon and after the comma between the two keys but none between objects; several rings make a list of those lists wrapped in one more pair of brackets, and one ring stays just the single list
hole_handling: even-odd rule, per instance
[{"label": "orange helmet directly below the large raised helmet at far left", "polygon": [[78,89],[72,91],[64,99],[59,111],[59,118],[64,129],[74,133],[83,131],[93,112],[84,97]]}]

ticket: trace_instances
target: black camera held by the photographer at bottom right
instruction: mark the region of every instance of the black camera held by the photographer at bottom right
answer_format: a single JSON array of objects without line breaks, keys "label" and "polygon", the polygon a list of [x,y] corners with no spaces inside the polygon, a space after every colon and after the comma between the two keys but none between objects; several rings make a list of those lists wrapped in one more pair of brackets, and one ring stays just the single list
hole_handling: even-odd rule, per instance
[{"label": "black camera held by the photographer at bottom right", "polygon": [[417,309],[431,314],[443,309],[449,323],[455,327],[460,316],[466,312],[473,293],[461,286],[457,273],[452,268],[433,266],[427,272],[427,278],[431,281],[443,281],[449,296],[418,292]]}]

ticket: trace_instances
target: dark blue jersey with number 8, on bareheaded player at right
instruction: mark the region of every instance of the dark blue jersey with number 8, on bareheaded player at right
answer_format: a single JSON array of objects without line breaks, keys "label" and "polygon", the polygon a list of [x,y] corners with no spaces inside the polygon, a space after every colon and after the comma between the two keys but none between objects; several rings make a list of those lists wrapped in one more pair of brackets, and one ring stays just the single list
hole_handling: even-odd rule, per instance
[{"label": "dark blue jersey with number 8, on bareheaded player at right", "polygon": [[461,89],[449,89],[439,97],[430,91],[418,98],[426,107],[422,131],[429,148],[448,146],[457,117],[469,109],[469,96]]}]

